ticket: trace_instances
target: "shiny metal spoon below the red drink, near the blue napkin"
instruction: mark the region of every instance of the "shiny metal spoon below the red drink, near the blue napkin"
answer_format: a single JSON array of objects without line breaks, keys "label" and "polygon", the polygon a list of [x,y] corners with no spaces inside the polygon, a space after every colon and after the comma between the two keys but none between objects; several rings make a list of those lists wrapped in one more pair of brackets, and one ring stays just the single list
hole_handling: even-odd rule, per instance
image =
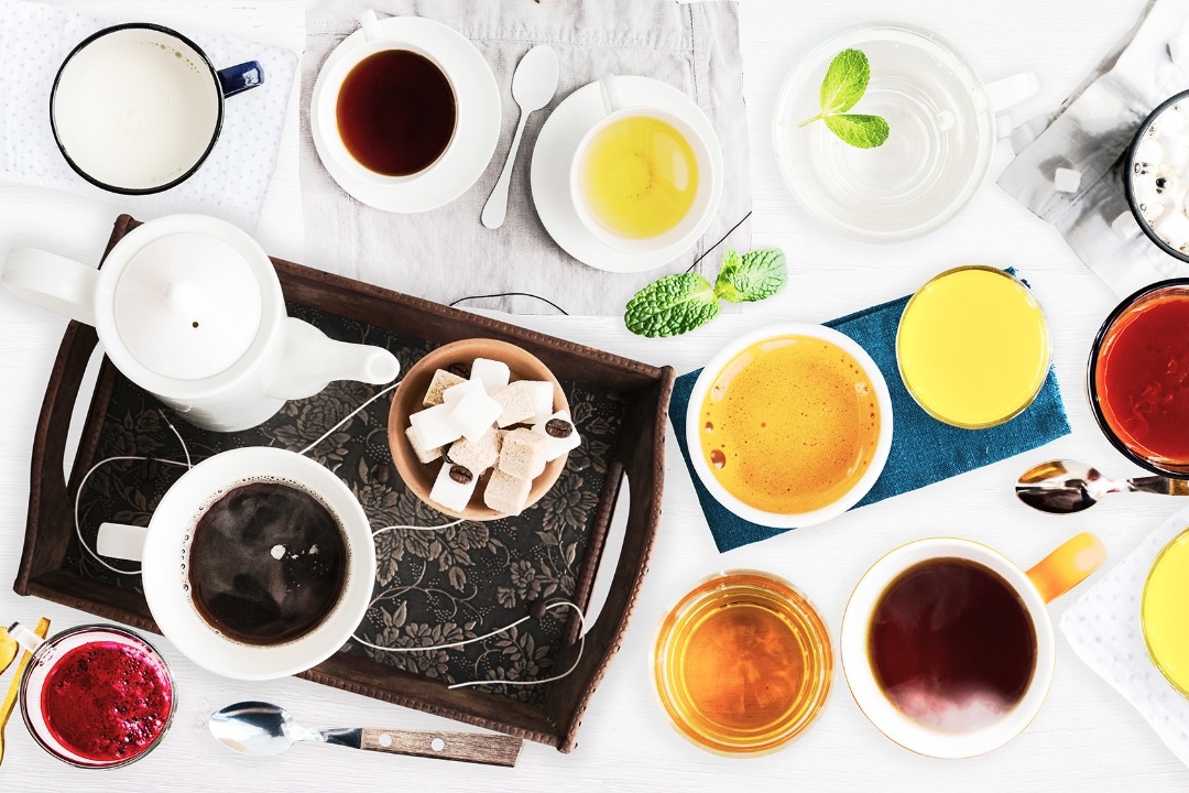
[{"label": "shiny metal spoon below the red drink, near the blue napkin", "polygon": [[1159,493],[1189,496],[1189,482],[1168,477],[1107,479],[1096,468],[1076,460],[1049,460],[1028,468],[1015,483],[1021,502],[1044,512],[1081,512],[1107,493]]}]

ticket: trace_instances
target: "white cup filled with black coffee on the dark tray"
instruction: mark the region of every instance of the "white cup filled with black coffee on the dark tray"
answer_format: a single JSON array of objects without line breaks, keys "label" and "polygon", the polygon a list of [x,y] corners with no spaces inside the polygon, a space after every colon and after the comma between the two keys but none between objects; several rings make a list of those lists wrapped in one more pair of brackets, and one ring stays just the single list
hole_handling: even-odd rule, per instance
[{"label": "white cup filled with black coffee on the dark tray", "polygon": [[297,674],[338,652],[376,579],[371,525],[347,485],[260,446],[199,462],[147,528],[103,523],[96,546],[140,561],[149,610],[178,650],[243,680]]}]

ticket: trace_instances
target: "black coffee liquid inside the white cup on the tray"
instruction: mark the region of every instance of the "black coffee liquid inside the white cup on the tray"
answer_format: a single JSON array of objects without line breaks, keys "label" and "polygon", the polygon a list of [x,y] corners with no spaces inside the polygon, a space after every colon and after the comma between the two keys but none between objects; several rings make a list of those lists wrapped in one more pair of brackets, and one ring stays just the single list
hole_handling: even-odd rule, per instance
[{"label": "black coffee liquid inside the white cup on the tray", "polygon": [[338,521],[289,485],[254,482],[207,509],[194,528],[189,581],[199,613],[229,638],[279,644],[334,609],[348,552]]}]

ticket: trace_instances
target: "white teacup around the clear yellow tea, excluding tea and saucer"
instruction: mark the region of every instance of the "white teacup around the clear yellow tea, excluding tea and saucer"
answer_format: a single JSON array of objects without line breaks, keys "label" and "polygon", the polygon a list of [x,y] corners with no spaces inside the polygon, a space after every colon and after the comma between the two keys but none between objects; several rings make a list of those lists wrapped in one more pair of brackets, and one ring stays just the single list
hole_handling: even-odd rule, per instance
[{"label": "white teacup around the clear yellow tea, excluding tea and saucer", "polygon": [[[605,245],[625,253],[650,253],[668,247],[688,247],[698,237],[699,228],[706,216],[715,210],[715,182],[722,176],[715,170],[711,146],[718,146],[717,140],[707,140],[688,121],[652,105],[625,105],[615,87],[616,78],[605,76],[599,80],[605,115],[592,126],[574,150],[570,165],[570,200],[583,226]],[[633,117],[647,117],[672,126],[686,139],[693,151],[698,169],[698,187],[692,206],[685,215],[671,228],[654,237],[633,238],[618,234],[602,222],[586,197],[587,185],[583,178],[583,168],[590,156],[591,144],[612,124]]]}]

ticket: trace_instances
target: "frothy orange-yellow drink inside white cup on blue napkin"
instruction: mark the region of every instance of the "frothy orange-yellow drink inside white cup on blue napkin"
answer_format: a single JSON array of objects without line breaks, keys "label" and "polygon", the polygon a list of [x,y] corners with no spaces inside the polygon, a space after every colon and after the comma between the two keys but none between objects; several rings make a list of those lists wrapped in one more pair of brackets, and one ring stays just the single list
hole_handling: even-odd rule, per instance
[{"label": "frothy orange-yellow drink inside white cup on blue napkin", "polygon": [[870,467],[880,409],[847,351],[812,336],[751,345],[700,405],[706,466],[744,504],[809,512],[844,496]]}]

